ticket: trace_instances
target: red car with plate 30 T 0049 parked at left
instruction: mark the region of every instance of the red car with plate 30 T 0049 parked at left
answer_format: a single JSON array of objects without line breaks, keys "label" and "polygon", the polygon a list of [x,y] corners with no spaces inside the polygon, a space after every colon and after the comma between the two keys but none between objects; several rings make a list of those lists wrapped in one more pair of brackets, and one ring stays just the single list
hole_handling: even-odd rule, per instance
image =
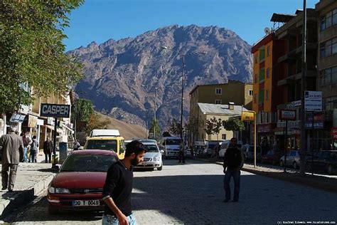
[{"label": "red car with plate 30 T 0049 parked at left", "polygon": [[68,155],[48,187],[49,214],[104,209],[103,185],[107,170],[117,160],[116,153],[107,150],[74,151]]}]

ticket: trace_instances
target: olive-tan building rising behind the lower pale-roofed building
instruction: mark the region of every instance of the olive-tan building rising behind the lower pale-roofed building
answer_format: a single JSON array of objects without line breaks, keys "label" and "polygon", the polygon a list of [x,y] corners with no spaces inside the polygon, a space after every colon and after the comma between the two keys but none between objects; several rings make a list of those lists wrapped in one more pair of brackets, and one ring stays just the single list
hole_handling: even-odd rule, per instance
[{"label": "olive-tan building rising behind the lower pale-roofed building", "polygon": [[252,109],[252,84],[229,80],[228,83],[197,85],[190,92],[189,135],[190,145],[196,140],[205,140],[200,130],[198,103],[242,105],[243,108]]}]

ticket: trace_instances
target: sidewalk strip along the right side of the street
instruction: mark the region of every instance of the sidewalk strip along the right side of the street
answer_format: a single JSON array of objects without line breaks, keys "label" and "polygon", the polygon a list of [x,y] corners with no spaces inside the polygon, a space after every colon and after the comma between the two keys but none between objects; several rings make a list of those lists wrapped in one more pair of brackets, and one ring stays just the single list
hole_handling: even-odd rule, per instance
[{"label": "sidewalk strip along the right side of the street", "polygon": [[[223,161],[218,159],[217,161],[211,161],[210,159],[195,158],[204,162],[213,162],[215,164],[223,165]],[[252,174],[259,174],[265,177],[271,177],[274,179],[282,179],[286,182],[293,182],[296,184],[302,184],[317,189],[323,189],[328,192],[337,192],[337,177],[336,176],[324,176],[321,174],[306,173],[305,176],[301,176],[299,171],[291,168],[287,168],[287,172],[284,173],[284,169],[279,167],[273,167],[268,164],[258,164],[254,167],[254,164],[244,164],[243,171],[250,172]]]}]

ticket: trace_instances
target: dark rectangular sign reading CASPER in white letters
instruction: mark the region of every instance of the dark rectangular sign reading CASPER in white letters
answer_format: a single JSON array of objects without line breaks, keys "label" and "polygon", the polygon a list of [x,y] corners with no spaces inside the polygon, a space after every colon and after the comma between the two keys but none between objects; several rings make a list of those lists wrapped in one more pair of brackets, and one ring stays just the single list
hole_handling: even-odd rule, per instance
[{"label": "dark rectangular sign reading CASPER in white letters", "polygon": [[42,117],[70,117],[70,105],[41,104],[40,116]]}]

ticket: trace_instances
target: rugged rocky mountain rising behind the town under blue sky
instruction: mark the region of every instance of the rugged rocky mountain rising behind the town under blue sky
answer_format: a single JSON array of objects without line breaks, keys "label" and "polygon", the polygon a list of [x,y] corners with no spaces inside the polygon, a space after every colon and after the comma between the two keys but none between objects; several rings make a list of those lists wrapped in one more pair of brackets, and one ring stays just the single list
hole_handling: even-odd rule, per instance
[{"label": "rugged rocky mountain rising behind the town under blue sky", "polygon": [[250,48],[226,28],[173,25],[135,38],[92,42],[68,54],[84,65],[85,78],[75,90],[92,100],[95,110],[145,127],[146,117],[151,123],[154,115],[156,88],[156,117],[165,127],[169,119],[180,120],[181,55],[186,54],[183,115],[187,120],[188,93],[196,85],[252,81]]}]

